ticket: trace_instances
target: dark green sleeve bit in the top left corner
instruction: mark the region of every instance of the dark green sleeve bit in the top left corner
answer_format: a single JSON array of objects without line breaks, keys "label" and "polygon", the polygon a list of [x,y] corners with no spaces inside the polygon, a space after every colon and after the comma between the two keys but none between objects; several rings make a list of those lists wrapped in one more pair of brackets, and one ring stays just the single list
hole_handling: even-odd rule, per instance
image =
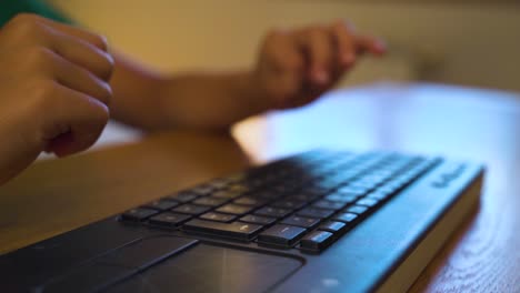
[{"label": "dark green sleeve bit in the top left corner", "polygon": [[56,21],[72,23],[63,13],[43,0],[0,0],[0,27],[18,13],[28,12]]}]

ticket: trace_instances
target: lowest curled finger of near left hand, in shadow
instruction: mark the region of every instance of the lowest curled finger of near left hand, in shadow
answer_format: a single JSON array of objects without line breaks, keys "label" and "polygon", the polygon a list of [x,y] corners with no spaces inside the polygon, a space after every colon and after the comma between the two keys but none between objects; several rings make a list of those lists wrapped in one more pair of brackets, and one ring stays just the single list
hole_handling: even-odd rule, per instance
[{"label": "lowest curled finger of near left hand, in shadow", "polygon": [[47,129],[58,129],[61,133],[49,138],[48,152],[66,156],[90,148],[100,137],[109,119],[107,105],[100,101],[57,84],[57,102]]}]

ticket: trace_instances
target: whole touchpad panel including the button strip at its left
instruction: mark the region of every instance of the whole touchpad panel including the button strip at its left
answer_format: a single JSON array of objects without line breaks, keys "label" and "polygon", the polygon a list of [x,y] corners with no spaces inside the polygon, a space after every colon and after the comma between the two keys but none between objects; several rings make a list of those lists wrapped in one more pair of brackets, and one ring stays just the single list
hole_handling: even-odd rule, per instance
[{"label": "whole touchpad panel including the button strip at its left", "polygon": [[74,267],[37,291],[264,292],[301,265],[294,257],[152,236]]}]

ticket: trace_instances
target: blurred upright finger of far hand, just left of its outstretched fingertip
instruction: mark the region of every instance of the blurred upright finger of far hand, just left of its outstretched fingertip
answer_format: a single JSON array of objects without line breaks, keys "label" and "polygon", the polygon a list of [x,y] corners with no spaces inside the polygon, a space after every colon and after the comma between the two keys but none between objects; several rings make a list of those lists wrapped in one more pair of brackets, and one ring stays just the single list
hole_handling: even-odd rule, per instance
[{"label": "blurred upright finger of far hand, just left of its outstretched fingertip", "polygon": [[332,24],[332,36],[338,46],[338,59],[342,68],[348,68],[356,62],[356,36],[354,29],[346,21]]}]

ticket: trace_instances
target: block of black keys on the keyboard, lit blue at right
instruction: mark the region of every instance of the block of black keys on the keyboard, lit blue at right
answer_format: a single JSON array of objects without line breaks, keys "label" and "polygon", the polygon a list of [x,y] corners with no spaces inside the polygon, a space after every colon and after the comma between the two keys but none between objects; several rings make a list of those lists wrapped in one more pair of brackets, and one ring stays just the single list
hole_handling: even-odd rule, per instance
[{"label": "block of black keys on the keyboard, lit blue at right", "polygon": [[177,192],[119,220],[318,253],[439,162],[312,151]]}]

